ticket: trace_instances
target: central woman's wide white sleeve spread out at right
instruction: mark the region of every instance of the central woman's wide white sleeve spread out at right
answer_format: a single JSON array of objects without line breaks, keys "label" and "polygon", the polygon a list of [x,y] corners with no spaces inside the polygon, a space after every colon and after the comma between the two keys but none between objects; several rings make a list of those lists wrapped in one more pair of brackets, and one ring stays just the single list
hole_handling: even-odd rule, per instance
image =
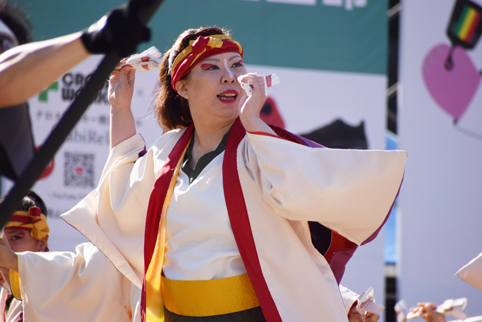
[{"label": "central woman's wide white sleeve spread out at right", "polygon": [[246,140],[245,162],[275,213],[356,244],[384,222],[404,177],[406,151],[313,149],[255,133]]}]

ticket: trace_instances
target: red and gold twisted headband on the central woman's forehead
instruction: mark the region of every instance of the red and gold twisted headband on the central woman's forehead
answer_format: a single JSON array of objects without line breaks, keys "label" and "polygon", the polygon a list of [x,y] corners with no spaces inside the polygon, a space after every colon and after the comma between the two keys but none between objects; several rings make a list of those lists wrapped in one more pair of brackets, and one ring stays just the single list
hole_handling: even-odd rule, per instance
[{"label": "red and gold twisted headband on the central woman's forehead", "polygon": [[200,36],[194,41],[189,41],[189,46],[182,50],[174,59],[172,66],[169,66],[172,88],[178,92],[176,83],[191,72],[191,69],[196,66],[196,62],[204,61],[214,55],[224,54],[224,52],[238,52],[242,57],[241,45],[224,34]]}]

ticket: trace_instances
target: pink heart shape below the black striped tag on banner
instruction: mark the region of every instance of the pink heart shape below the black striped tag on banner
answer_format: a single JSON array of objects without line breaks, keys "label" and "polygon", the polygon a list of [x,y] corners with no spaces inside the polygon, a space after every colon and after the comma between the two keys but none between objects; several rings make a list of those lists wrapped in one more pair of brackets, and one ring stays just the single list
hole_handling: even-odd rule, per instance
[{"label": "pink heart shape below the black striped tag on banner", "polygon": [[461,47],[453,49],[451,68],[449,54],[449,45],[435,46],[423,61],[422,74],[432,98],[457,121],[474,98],[481,74]]}]

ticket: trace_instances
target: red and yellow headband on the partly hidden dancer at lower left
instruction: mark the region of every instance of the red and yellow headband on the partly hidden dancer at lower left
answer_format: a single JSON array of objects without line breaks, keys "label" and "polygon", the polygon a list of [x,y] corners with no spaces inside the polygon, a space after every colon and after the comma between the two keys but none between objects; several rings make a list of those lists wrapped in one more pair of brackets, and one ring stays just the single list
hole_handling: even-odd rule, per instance
[{"label": "red and yellow headband on the partly hidden dancer at lower left", "polygon": [[15,211],[10,218],[10,222],[5,228],[18,227],[30,229],[30,235],[35,239],[43,239],[48,236],[50,229],[47,224],[47,217],[39,207],[33,206],[28,211]]}]

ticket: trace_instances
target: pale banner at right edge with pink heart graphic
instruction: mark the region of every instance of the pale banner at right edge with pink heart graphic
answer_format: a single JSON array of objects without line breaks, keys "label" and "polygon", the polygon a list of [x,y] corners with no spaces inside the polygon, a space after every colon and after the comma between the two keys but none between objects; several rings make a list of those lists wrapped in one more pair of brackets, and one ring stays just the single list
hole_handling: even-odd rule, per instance
[{"label": "pale banner at right edge with pink heart graphic", "polygon": [[399,147],[408,151],[399,297],[410,306],[482,292],[454,276],[482,251],[482,1],[406,0]]}]

